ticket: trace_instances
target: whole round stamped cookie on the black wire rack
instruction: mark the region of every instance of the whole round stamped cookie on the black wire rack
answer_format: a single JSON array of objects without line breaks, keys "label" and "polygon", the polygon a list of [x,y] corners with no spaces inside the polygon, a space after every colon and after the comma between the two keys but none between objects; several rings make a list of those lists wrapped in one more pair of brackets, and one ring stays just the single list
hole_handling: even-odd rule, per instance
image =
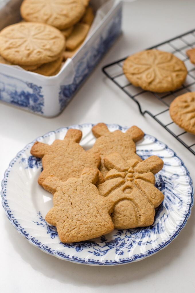
[{"label": "whole round stamped cookie on the black wire rack", "polygon": [[159,50],[145,50],[129,56],[123,71],[127,79],[146,91],[173,91],[184,82],[187,69],[173,54]]}]

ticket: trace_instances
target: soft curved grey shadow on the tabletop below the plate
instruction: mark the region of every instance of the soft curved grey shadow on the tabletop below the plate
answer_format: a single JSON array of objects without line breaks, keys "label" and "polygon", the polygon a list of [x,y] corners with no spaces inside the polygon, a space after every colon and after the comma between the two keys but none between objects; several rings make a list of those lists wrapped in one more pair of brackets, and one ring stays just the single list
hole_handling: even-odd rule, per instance
[{"label": "soft curved grey shadow on the tabletop below the plate", "polygon": [[170,263],[176,261],[176,258],[184,253],[185,249],[188,249],[194,225],[195,213],[192,212],[177,239],[172,241],[165,249],[138,262],[103,267],[71,263],[42,252],[20,236],[5,217],[5,229],[8,232],[10,242],[13,243],[15,253],[19,254],[23,261],[30,264],[32,269],[62,283],[76,286],[87,285],[88,287],[130,283],[153,275],[156,271],[160,272]]}]

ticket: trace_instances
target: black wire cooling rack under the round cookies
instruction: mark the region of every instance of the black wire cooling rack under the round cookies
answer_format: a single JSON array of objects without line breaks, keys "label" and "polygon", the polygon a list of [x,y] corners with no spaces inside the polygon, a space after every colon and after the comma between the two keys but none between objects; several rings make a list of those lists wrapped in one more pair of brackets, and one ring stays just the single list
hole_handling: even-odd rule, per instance
[{"label": "black wire cooling rack under the round cookies", "polygon": [[195,65],[190,62],[185,53],[193,47],[195,47],[195,29],[148,48],[170,52],[184,62],[188,74],[184,84],[176,91],[153,93],[133,86],[122,71],[123,62],[127,57],[104,66],[102,70],[109,79],[137,103],[142,115],[149,114],[195,155],[195,135],[177,126],[169,115],[169,106],[175,97],[189,91],[195,91]]}]

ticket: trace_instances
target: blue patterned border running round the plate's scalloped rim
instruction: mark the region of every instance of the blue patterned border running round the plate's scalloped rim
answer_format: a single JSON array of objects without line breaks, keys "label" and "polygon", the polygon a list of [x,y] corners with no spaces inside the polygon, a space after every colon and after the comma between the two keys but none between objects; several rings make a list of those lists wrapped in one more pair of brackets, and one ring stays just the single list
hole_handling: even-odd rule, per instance
[{"label": "blue patterned border running round the plate's scalloped rim", "polygon": [[[78,128],[78,127],[83,128],[83,127],[89,127],[89,126],[92,127],[92,126],[94,126],[94,124],[86,123],[86,124],[83,124],[83,125],[72,125],[72,126],[69,126],[69,127],[61,127],[61,128],[59,128],[59,129],[57,129],[56,131],[53,131],[53,132],[58,133],[58,132],[61,132],[61,130],[63,130],[63,129]],[[128,127],[121,127],[120,125],[117,125],[117,124],[111,124],[111,125],[108,124],[107,126],[108,127],[118,127],[118,129],[120,129],[120,130],[128,129]],[[48,137],[50,135],[50,133],[51,132],[48,132],[45,135],[43,135],[42,137],[43,138]],[[147,136],[152,137],[155,140],[155,142],[161,143],[160,141],[158,141],[153,136],[148,135],[148,134],[147,134]],[[136,260],[141,260],[142,258],[148,257],[148,256],[158,252],[160,249],[165,248],[173,239],[175,239],[177,237],[177,235],[180,233],[180,231],[184,228],[184,226],[185,226],[185,224],[187,222],[187,219],[189,218],[189,216],[191,214],[191,207],[193,206],[193,202],[194,202],[194,200],[193,200],[194,190],[193,190],[193,187],[192,187],[192,180],[191,180],[191,177],[189,176],[189,171],[184,166],[183,161],[175,154],[174,151],[172,151],[172,149],[169,149],[166,144],[161,143],[161,144],[163,144],[165,146],[165,149],[168,149],[168,150],[172,151],[174,156],[177,157],[180,160],[182,166],[186,170],[187,176],[189,177],[189,185],[191,186],[191,194],[190,194],[191,195],[191,203],[189,204],[188,213],[186,214],[186,217],[184,218],[184,221],[180,223],[180,227],[177,229],[177,231],[175,231],[175,234],[173,234],[172,237],[170,237],[170,239],[168,241],[166,241],[166,242],[164,242],[162,244],[159,244],[159,247],[154,249],[154,250],[151,249],[151,250],[147,251],[146,253],[141,253],[139,255],[134,255],[134,257],[131,258],[131,259],[130,258],[124,258],[124,259],[119,259],[119,261],[105,260],[104,263],[101,263],[99,260],[94,260],[94,259],[88,259],[86,261],[86,259],[78,258],[77,256],[70,257],[70,255],[66,255],[65,253],[62,253],[62,252],[59,252],[59,251],[56,252],[55,250],[51,250],[51,248],[49,248],[48,246],[43,245],[37,239],[35,239],[33,236],[30,236],[27,233],[27,231],[25,231],[25,229],[22,226],[20,226],[20,224],[18,223],[18,220],[15,219],[13,214],[11,214],[11,210],[9,210],[9,206],[8,206],[7,200],[6,200],[6,184],[7,184],[7,180],[8,180],[8,176],[9,176],[9,172],[11,171],[11,168],[13,167],[14,163],[20,158],[20,156],[26,151],[26,149],[31,147],[32,144],[34,144],[34,142],[36,140],[38,140],[38,139],[39,139],[39,137],[37,139],[35,139],[33,142],[31,142],[30,144],[27,144],[25,146],[25,148],[15,156],[15,158],[10,162],[8,169],[5,171],[4,179],[1,182],[2,205],[3,205],[4,209],[5,209],[6,215],[7,215],[8,219],[11,221],[12,225],[15,226],[15,228],[18,230],[18,232],[20,234],[22,234],[32,245],[42,249],[46,253],[50,253],[52,255],[55,255],[58,258],[63,258],[63,259],[73,261],[73,262],[76,262],[76,263],[85,263],[85,264],[91,264],[91,265],[119,265],[119,264],[130,263],[130,262],[136,261]],[[104,240],[104,239],[102,239],[102,240]]]}]

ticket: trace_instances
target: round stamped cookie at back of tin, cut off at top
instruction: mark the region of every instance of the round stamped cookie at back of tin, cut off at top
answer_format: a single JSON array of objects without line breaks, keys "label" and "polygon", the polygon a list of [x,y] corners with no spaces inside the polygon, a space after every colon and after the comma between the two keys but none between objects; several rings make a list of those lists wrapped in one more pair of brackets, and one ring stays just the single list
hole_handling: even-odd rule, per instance
[{"label": "round stamped cookie at back of tin, cut off at top", "polygon": [[24,0],[20,7],[26,21],[48,23],[60,30],[77,23],[84,12],[82,0]]}]

